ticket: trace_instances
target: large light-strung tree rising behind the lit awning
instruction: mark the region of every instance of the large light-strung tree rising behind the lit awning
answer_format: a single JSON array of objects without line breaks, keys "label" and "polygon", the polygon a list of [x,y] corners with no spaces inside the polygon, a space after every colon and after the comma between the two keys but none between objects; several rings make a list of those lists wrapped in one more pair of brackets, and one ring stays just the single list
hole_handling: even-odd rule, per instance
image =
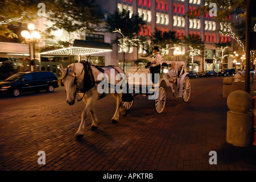
[{"label": "large light-strung tree rising behind the lit awning", "polygon": [[68,41],[56,39],[54,36],[46,36],[47,40],[51,41],[50,46],[70,47],[66,49],[67,55],[72,54],[75,35],[83,31],[95,31],[102,22],[103,16],[98,13],[97,5],[94,0],[55,0],[51,2],[51,10],[47,14],[47,20],[53,23],[47,28],[46,34],[51,31],[65,30],[69,35]]}]

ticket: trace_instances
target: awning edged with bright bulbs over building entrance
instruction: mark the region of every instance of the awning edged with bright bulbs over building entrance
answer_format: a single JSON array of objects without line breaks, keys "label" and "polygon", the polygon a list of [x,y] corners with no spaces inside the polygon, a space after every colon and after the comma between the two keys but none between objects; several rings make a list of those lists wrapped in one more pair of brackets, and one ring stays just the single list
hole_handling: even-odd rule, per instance
[{"label": "awning edged with bright bulbs over building entrance", "polygon": [[46,48],[41,51],[41,55],[90,55],[112,51],[109,43],[90,42],[87,40],[75,40],[73,47],[66,48]]}]

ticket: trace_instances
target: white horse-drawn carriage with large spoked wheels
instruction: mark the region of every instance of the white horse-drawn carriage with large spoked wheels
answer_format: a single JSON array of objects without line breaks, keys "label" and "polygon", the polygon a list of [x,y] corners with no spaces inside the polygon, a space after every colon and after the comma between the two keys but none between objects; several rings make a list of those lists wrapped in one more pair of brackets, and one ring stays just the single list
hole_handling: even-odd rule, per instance
[{"label": "white horse-drawn carriage with large spoked wheels", "polygon": [[[175,69],[178,70],[178,74],[175,77],[167,76],[171,69],[171,63],[175,63]],[[129,68],[126,69],[127,81],[132,83],[134,92],[132,93],[133,98],[138,94],[142,96],[150,97],[153,95],[153,88],[149,89],[150,77],[147,77],[147,73],[150,73],[148,67]],[[135,74],[138,74],[134,76]],[[191,84],[189,76],[186,72],[186,64],[184,61],[164,61],[161,63],[161,69],[159,73],[158,88],[155,90],[157,96],[154,99],[155,111],[161,114],[165,109],[166,105],[166,93],[171,93],[175,98],[182,98],[183,102],[189,101],[191,93]],[[142,76],[141,76],[142,75]],[[134,79],[138,77],[139,79]],[[129,80],[130,79],[130,80]],[[146,93],[143,90],[147,90]],[[123,106],[129,110],[134,104],[134,100],[130,102],[122,102]]]}]

